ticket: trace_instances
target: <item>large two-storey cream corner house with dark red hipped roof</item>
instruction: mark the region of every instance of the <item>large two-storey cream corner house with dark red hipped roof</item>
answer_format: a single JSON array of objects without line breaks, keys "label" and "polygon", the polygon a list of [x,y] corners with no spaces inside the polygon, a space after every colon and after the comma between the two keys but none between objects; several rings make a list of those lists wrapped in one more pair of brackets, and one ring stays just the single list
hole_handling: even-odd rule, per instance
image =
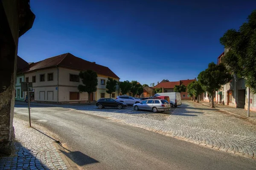
[{"label": "large two-storey cream corner house with dark red hipped roof", "polygon": [[[90,94],[91,101],[109,96],[106,93],[108,77],[119,82],[119,77],[108,67],[86,61],[70,53],[44,59],[21,72],[25,81],[32,82],[33,92],[30,95],[34,96],[36,102],[61,104],[88,102],[88,94],[79,93],[77,88],[82,84],[79,72],[86,70],[93,70],[98,74],[97,91]],[[111,97],[115,98],[117,95],[118,87]]]}]

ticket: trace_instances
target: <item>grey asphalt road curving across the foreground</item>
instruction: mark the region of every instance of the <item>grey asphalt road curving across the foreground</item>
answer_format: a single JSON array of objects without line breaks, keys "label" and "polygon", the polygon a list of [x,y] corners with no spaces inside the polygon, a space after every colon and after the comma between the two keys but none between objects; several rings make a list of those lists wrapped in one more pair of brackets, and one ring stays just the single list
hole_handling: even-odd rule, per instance
[{"label": "grey asphalt road curving across the foreground", "polygon": [[[15,117],[28,120],[26,105]],[[32,105],[32,125],[46,127],[88,170],[256,170],[256,160],[212,150],[67,108]]]}]

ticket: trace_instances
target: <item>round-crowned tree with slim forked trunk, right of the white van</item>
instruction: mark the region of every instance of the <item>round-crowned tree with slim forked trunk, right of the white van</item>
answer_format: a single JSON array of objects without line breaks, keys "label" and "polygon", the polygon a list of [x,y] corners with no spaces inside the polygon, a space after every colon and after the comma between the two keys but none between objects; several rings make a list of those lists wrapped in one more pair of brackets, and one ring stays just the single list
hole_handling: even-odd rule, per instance
[{"label": "round-crowned tree with slim forked trunk, right of the white van", "polygon": [[[211,94],[213,98],[215,91],[220,89],[221,85],[230,82],[231,78],[231,74],[222,63],[216,65],[214,62],[211,62],[205,71],[199,73],[198,82],[201,84],[204,91]],[[214,108],[213,101],[211,107]]]}]

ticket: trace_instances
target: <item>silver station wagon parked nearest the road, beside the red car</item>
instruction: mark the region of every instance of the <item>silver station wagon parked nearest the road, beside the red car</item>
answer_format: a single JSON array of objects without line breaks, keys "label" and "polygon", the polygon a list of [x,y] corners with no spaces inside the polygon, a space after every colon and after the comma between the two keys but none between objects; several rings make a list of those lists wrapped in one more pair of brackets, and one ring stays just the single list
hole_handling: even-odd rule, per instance
[{"label": "silver station wagon parked nearest the road, beside the red car", "polygon": [[147,99],[141,103],[133,105],[134,110],[151,110],[154,113],[157,111],[169,111],[171,109],[170,103],[164,99]]}]

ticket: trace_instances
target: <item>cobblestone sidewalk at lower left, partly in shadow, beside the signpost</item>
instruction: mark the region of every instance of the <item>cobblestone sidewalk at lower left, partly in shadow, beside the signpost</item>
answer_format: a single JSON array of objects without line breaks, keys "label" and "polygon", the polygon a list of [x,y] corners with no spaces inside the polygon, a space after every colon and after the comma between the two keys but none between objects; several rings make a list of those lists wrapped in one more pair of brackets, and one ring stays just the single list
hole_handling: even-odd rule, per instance
[{"label": "cobblestone sidewalk at lower left, partly in shadow, beside the signpost", "polygon": [[[15,148],[11,156],[0,157],[0,170],[65,170],[53,139],[42,129],[29,127],[27,122],[14,118]],[[41,132],[42,133],[41,133]]]}]

